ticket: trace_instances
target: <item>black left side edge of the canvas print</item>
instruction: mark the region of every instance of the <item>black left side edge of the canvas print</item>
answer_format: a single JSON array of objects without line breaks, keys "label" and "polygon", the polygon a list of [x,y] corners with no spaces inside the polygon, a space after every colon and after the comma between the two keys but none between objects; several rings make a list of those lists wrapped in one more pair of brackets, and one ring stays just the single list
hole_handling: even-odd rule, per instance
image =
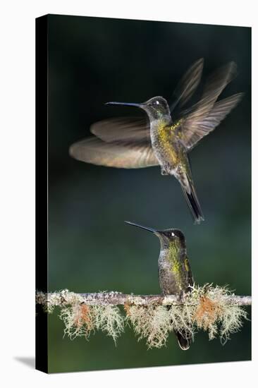
[{"label": "black left side edge of the canvas print", "polygon": [[[36,289],[47,292],[48,54],[47,16],[36,19]],[[36,308],[36,369],[48,372],[47,314]]]}]

